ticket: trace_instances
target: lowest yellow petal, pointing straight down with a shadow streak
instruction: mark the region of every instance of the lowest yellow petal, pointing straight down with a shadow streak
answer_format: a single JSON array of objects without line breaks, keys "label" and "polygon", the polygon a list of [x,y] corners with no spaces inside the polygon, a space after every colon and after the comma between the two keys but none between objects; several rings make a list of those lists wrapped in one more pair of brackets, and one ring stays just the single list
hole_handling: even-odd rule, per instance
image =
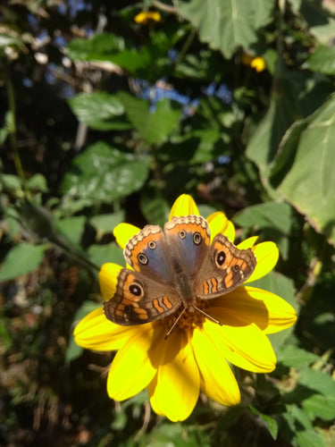
[{"label": "lowest yellow petal, pointing straight down with a shadow streak", "polygon": [[147,388],[153,409],[173,422],[190,415],[200,391],[200,375],[190,343],[183,343],[184,347],[171,359],[169,351],[174,350],[172,344],[179,344],[176,333],[165,340],[157,376]]}]

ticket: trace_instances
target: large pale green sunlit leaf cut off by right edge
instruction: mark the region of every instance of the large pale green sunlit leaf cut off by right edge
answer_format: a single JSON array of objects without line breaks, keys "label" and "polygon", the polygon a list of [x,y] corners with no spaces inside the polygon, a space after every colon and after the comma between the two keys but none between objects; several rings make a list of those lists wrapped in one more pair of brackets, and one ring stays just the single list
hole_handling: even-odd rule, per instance
[{"label": "large pale green sunlit leaf cut off by right edge", "polygon": [[[297,145],[292,165],[279,185],[281,194],[306,215],[317,232],[323,232],[335,244],[335,96],[306,119],[300,135],[293,135]],[[286,144],[290,145],[290,134]],[[285,150],[285,148],[283,148]],[[292,153],[292,148],[289,148]]]}]

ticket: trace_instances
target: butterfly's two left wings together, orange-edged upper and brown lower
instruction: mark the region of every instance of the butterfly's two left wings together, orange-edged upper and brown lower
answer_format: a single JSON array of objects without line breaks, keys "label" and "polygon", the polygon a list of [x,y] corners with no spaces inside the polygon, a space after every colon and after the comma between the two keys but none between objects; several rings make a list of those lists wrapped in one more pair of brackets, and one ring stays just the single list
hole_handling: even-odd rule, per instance
[{"label": "butterfly's two left wings together, orange-edged upper and brown lower", "polygon": [[147,225],[126,244],[124,257],[134,269],[121,270],[105,316],[118,325],[142,325],[175,312],[181,299],[174,287],[169,248],[158,225]]}]

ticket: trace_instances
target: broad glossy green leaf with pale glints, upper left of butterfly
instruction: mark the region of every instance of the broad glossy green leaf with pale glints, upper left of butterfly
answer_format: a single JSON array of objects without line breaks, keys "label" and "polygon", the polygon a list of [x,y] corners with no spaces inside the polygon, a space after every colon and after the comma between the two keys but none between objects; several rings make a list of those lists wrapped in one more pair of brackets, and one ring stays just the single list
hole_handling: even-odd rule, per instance
[{"label": "broad glossy green leaf with pale glints, upper left of butterfly", "polygon": [[92,203],[111,202],[139,190],[147,173],[145,158],[99,141],[73,160],[61,191],[73,198],[89,198]]}]

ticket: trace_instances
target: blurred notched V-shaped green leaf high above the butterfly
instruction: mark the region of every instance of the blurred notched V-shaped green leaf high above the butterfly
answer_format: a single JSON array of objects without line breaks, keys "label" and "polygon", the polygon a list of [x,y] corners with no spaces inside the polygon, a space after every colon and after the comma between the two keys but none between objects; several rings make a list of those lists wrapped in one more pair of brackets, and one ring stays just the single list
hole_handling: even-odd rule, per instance
[{"label": "blurred notched V-shaped green leaf high above the butterfly", "polygon": [[126,114],[148,144],[163,143],[178,126],[180,110],[173,109],[169,99],[159,101],[154,111],[144,99],[120,92],[118,97],[126,109]]}]

